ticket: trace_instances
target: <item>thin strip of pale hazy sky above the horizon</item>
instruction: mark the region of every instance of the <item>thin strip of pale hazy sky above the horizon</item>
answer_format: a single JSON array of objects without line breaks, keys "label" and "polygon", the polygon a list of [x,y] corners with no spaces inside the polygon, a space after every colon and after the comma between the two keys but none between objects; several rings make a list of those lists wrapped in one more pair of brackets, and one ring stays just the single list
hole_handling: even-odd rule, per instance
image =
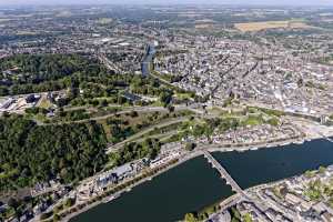
[{"label": "thin strip of pale hazy sky above the horizon", "polygon": [[219,3],[219,4],[279,4],[333,6],[333,0],[0,0],[0,4],[77,4],[77,3]]}]

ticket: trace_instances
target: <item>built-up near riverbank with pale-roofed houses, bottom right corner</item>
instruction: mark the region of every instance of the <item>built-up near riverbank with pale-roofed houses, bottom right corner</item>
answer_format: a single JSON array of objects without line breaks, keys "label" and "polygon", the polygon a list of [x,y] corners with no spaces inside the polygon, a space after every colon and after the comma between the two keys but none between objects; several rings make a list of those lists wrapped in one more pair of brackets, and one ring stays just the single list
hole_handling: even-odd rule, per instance
[{"label": "built-up near riverbank with pale-roofed houses, bottom right corner", "polygon": [[[319,221],[332,221],[333,204],[331,200],[333,194],[330,192],[333,189],[332,178],[333,165],[331,164],[291,178],[248,188],[244,192],[251,196],[252,205],[248,204],[249,200],[232,195],[226,199],[228,201],[220,202],[219,210],[209,218],[219,218],[230,208],[235,208],[242,209],[242,215],[254,215],[252,220],[256,220],[258,214],[252,214],[252,212],[258,211],[256,203],[260,203],[262,206],[260,214],[272,221],[281,216],[289,221],[306,221],[309,220],[306,212],[315,212]],[[319,205],[321,208],[317,208]]]}]

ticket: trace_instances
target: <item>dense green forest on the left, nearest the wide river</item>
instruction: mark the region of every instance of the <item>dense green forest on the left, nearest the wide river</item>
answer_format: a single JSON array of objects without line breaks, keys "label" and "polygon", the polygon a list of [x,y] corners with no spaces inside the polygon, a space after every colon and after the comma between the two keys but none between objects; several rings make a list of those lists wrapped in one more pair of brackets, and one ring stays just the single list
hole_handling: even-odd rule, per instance
[{"label": "dense green forest on the left, nearest the wide river", "polygon": [[20,115],[0,119],[0,190],[59,178],[70,183],[101,170],[105,135],[95,122],[37,125]]}]

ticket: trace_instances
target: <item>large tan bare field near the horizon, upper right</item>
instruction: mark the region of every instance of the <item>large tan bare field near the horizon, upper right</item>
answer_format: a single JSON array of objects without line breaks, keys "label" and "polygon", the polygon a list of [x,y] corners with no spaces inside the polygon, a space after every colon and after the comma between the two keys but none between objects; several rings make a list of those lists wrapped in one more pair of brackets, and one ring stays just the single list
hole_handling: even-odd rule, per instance
[{"label": "large tan bare field near the horizon, upper right", "polygon": [[263,21],[263,22],[248,22],[248,23],[235,23],[234,27],[243,32],[245,31],[261,31],[264,29],[278,29],[278,28],[290,28],[290,29],[307,29],[311,28],[302,21]]}]

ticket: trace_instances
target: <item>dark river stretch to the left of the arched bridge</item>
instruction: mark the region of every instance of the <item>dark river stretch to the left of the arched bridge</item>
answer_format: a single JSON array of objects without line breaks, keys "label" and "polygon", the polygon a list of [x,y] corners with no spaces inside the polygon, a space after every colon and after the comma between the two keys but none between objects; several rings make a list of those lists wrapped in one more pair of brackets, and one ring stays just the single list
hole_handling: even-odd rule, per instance
[{"label": "dark river stretch to the left of the arched bridge", "polygon": [[123,222],[179,221],[184,212],[204,208],[231,194],[231,188],[203,157],[199,157],[135,186],[120,199],[75,216],[71,222],[105,221],[110,218]]}]

